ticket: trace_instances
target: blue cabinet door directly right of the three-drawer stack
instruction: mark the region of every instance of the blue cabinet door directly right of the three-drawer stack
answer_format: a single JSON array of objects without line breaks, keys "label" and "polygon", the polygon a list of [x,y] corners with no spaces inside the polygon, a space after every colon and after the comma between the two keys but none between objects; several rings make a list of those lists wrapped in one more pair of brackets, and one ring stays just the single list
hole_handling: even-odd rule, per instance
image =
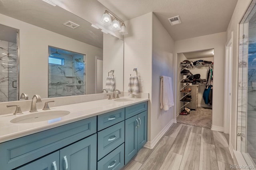
[{"label": "blue cabinet door directly right of the three-drawer stack", "polygon": [[129,119],[125,120],[125,161],[124,163],[128,163],[129,160],[137,153],[138,145],[138,116],[133,116]]}]

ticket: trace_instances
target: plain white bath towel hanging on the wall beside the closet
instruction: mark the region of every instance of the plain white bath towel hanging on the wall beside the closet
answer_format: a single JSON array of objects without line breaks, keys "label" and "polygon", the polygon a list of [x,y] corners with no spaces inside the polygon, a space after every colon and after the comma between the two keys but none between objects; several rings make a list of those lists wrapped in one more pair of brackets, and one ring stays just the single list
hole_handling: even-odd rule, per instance
[{"label": "plain white bath towel hanging on the wall beside the closet", "polygon": [[162,83],[160,82],[160,92],[162,92],[162,94],[160,94],[160,97],[162,97],[162,100],[160,99],[160,109],[167,111],[170,107],[174,106],[172,78],[163,76],[162,79]]}]

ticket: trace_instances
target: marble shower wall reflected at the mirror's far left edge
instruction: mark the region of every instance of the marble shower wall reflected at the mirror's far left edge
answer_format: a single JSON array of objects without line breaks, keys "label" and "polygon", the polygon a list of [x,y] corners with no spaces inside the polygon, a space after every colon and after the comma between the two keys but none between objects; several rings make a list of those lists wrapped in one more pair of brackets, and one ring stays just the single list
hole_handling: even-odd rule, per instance
[{"label": "marble shower wall reflected at the mirror's far left edge", "polygon": [[0,102],[18,100],[17,56],[16,43],[0,40]]}]

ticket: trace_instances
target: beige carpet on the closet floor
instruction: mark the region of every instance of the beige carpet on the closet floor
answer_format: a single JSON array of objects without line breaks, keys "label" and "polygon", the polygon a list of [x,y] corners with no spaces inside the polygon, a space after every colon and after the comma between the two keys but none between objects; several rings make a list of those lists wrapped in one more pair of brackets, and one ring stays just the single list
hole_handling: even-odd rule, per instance
[{"label": "beige carpet on the closet floor", "polygon": [[211,128],[212,126],[212,109],[206,107],[198,107],[191,110],[189,115],[178,115],[178,123],[187,125]]}]

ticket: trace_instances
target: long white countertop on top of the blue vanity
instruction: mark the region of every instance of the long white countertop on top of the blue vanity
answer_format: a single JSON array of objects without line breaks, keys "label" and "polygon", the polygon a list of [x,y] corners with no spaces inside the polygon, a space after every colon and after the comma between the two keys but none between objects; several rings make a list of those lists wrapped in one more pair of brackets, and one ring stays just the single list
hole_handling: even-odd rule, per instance
[{"label": "long white countertop on top of the blue vanity", "polygon": [[[125,97],[122,97],[125,98]],[[22,115],[6,114],[0,115],[0,143],[10,141],[26,135],[31,135],[40,131],[45,131],[54,127],[107,113],[109,111],[121,109],[127,106],[132,106],[141,102],[146,102],[147,98],[132,98],[133,101],[116,102],[114,100],[96,100],[91,102],[84,102],[78,104],[70,104],[65,106],[50,107],[48,111],[65,110],[70,111],[70,114],[63,116],[58,121],[40,121],[35,123],[11,123],[10,121],[22,115],[33,114],[29,111],[24,111]],[[44,112],[38,109],[38,112]],[[37,113],[37,112],[36,112]],[[51,123],[52,122],[52,123]]]}]

